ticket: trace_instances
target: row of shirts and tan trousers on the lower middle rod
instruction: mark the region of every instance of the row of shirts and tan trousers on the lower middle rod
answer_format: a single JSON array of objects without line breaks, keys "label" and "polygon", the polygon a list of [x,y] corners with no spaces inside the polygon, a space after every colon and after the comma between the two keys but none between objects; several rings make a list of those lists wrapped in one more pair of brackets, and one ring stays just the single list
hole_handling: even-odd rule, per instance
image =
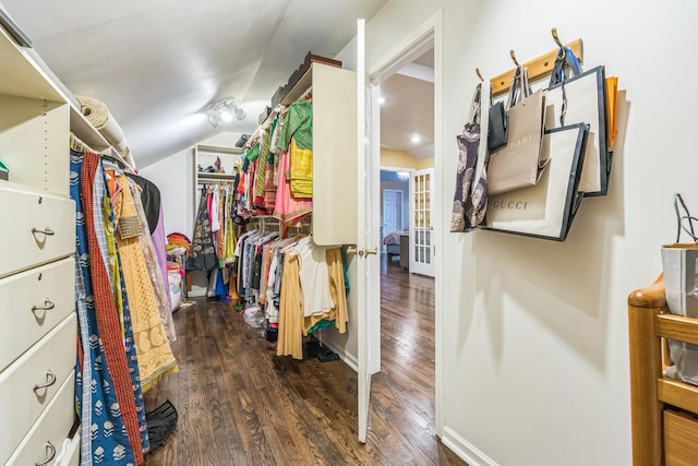
[{"label": "row of shirts and tan trousers on the lower middle rod", "polygon": [[[238,240],[238,289],[248,307],[263,308],[277,355],[302,359],[302,338],[335,326],[346,333],[349,311],[339,248],[318,247],[312,237],[282,239],[252,230]],[[268,336],[267,336],[268,339]]]}]

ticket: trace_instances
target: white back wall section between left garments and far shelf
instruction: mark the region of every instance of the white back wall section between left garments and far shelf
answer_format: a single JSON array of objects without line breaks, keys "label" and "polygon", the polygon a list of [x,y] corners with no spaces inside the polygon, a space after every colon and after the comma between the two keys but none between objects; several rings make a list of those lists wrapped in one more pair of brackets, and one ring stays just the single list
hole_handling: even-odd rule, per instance
[{"label": "white back wall section between left garments and far shelf", "polygon": [[188,148],[139,170],[160,190],[165,234],[194,232],[193,150]]}]

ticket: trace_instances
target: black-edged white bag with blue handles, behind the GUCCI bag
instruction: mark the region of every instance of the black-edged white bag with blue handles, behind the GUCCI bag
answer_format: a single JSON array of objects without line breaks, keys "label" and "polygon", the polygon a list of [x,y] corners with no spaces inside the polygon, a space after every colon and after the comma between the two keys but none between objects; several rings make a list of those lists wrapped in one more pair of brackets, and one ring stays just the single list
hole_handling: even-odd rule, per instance
[{"label": "black-edged white bag with blue handles, behind the GUCCI bag", "polygon": [[[589,124],[589,143],[585,155],[579,190],[585,195],[605,195],[609,190],[611,157],[606,135],[605,68],[597,67],[581,72],[580,67],[568,65],[571,50],[565,48],[555,60],[545,97],[545,129],[568,124]],[[555,70],[562,69],[562,72]],[[565,70],[569,70],[567,77]]]}]

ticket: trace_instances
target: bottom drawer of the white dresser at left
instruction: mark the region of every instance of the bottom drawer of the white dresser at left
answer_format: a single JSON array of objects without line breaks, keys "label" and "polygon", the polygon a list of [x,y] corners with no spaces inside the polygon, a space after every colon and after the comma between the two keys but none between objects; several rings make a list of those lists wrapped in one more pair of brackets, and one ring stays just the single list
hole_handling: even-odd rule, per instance
[{"label": "bottom drawer of the white dresser at left", "polygon": [[34,465],[47,459],[50,459],[48,465],[53,464],[55,456],[62,449],[65,437],[73,426],[74,393],[75,373],[72,372],[17,446],[8,465]]}]

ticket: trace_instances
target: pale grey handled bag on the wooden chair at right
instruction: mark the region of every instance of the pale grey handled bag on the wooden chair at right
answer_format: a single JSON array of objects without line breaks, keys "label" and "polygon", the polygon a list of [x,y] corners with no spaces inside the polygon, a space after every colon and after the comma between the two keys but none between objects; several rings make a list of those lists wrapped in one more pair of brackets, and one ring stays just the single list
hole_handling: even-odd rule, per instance
[{"label": "pale grey handled bag on the wooden chair at right", "polygon": [[[661,248],[666,306],[672,314],[698,318],[698,238],[693,225],[696,218],[688,213],[681,194],[674,194],[674,210],[676,242]],[[679,242],[682,231],[694,242]],[[674,366],[667,374],[698,385],[698,345],[670,339],[669,349]]]}]

